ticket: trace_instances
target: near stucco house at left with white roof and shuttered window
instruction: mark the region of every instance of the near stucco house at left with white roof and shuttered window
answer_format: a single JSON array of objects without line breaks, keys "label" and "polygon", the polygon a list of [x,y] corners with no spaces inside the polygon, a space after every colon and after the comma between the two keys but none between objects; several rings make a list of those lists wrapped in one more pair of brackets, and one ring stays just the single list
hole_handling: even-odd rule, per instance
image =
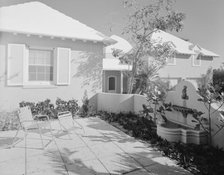
[{"label": "near stucco house at left with white roof and shuttered window", "polygon": [[114,43],[40,2],[1,7],[0,110],[102,91],[104,47]]}]

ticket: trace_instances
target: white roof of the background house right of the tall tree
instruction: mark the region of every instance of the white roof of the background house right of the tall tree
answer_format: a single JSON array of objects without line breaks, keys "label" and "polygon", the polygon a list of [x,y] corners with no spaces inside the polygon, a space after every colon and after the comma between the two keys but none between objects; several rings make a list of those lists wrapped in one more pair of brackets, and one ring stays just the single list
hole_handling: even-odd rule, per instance
[{"label": "white roof of the background house right of the tall tree", "polygon": [[161,30],[154,32],[152,34],[152,40],[155,42],[161,42],[161,43],[172,42],[172,45],[174,45],[174,49],[178,53],[181,53],[181,54],[190,54],[191,55],[191,54],[200,53],[205,56],[213,56],[213,57],[219,56],[219,55],[217,55],[209,50],[206,50],[200,46],[195,47],[197,45],[194,45],[189,41],[185,41],[181,38],[178,38],[174,35],[171,35],[167,32],[161,31]]}]

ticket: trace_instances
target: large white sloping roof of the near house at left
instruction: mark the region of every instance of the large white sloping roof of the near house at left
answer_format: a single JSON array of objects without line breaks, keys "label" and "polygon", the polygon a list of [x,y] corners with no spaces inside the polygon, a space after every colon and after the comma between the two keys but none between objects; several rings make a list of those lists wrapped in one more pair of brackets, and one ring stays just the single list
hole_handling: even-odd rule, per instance
[{"label": "large white sloping roof of the near house at left", "polygon": [[115,43],[102,33],[41,2],[1,7],[0,31]]}]

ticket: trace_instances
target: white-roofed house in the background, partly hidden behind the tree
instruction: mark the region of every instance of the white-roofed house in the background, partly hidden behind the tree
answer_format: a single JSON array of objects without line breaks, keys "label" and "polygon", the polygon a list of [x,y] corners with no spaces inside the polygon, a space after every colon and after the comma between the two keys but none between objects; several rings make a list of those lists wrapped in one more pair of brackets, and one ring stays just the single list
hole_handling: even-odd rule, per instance
[{"label": "white-roofed house in the background, partly hidden behind the tree", "polygon": [[[128,78],[124,72],[130,71],[131,65],[120,63],[118,58],[113,57],[112,51],[115,48],[129,52],[132,47],[122,38],[114,37],[113,39],[117,43],[107,47],[106,58],[103,60],[103,92],[126,93]],[[221,65],[222,60],[219,55],[170,33],[155,32],[152,35],[152,41],[170,42],[173,45],[175,57],[167,59],[167,64],[158,71],[159,77],[168,81],[171,87],[183,79],[198,87],[198,80],[210,67],[217,68]],[[152,57],[149,57],[149,64],[150,59]]]}]

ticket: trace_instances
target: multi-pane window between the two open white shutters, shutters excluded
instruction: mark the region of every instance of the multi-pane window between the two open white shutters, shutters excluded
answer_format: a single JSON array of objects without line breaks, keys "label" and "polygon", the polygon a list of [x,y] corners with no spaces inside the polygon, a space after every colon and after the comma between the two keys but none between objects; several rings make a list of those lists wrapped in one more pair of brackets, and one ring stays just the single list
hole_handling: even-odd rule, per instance
[{"label": "multi-pane window between the two open white shutters, shutters excluded", "polygon": [[53,51],[43,49],[29,49],[28,81],[53,81]]}]

